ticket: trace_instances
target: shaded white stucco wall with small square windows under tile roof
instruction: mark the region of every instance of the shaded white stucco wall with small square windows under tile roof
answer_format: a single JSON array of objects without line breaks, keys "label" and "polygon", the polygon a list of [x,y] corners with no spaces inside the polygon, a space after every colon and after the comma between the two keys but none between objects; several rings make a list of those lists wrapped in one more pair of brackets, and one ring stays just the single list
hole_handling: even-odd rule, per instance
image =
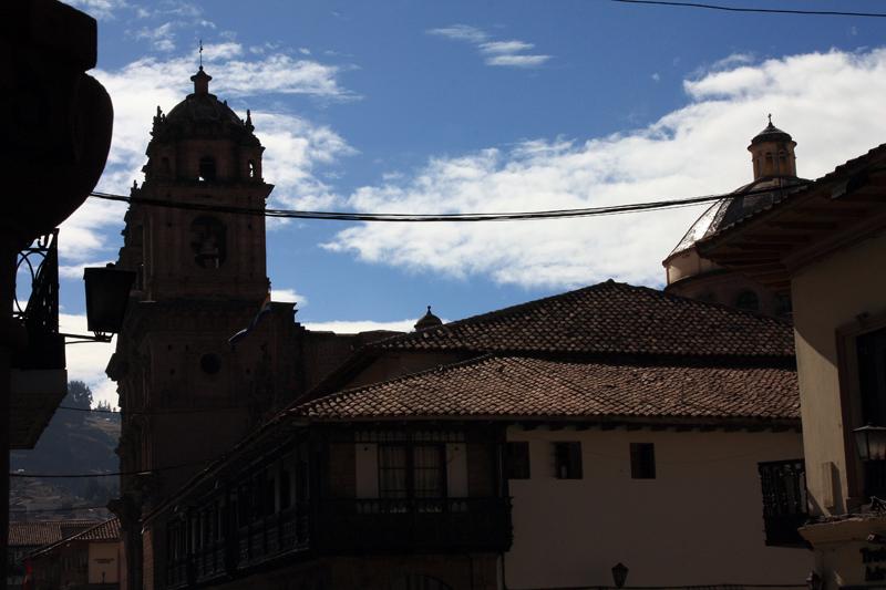
[{"label": "shaded white stucco wall with small square windows under tile roof", "polygon": [[[523,431],[530,479],[509,482],[509,589],[804,583],[806,549],[764,545],[756,464],[802,457],[799,433]],[[552,442],[581,443],[581,479],[555,479]],[[653,443],[656,479],[631,479],[630,443]]]}]

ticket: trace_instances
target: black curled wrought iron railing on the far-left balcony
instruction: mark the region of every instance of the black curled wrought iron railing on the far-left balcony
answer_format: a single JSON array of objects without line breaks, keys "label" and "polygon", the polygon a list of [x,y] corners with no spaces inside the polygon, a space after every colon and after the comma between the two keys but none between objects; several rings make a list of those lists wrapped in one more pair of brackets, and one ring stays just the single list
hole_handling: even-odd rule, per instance
[{"label": "black curled wrought iron railing on the far-left balcony", "polygon": [[41,236],[21,250],[17,283],[30,280],[31,291],[22,307],[17,297],[12,315],[28,330],[28,346],[16,358],[18,369],[64,369],[64,338],[59,334],[59,230]]}]

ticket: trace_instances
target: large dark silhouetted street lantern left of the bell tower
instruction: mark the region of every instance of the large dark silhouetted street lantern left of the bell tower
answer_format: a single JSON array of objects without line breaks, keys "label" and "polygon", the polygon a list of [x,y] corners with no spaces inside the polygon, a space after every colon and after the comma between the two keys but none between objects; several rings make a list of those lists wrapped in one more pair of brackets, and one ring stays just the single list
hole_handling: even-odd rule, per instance
[{"label": "large dark silhouetted street lantern left of the bell tower", "polygon": [[113,265],[84,268],[86,283],[86,328],[96,334],[120,332],[135,272]]}]

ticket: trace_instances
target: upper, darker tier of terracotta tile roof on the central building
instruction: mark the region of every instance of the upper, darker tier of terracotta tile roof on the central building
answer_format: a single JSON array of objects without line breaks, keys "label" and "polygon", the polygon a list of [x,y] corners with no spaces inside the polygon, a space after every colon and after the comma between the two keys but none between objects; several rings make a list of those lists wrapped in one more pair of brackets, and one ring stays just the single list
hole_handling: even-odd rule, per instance
[{"label": "upper, darker tier of terracotta tile roof on the central building", "polygon": [[370,350],[793,356],[782,320],[607,281],[394,337]]}]

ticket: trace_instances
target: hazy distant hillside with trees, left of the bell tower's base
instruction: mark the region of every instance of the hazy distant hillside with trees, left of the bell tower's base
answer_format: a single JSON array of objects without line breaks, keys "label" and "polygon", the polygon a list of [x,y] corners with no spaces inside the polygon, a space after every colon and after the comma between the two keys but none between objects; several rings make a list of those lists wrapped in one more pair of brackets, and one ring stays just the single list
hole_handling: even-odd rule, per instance
[{"label": "hazy distant hillside with trees, left of the bell tower's base", "polygon": [[[32,451],[10,453],[13,473],[99,474],[120,470],[114,453],[120,438],[120,414],[89,411],[92,392],[82,382],[69,384],[68,396],[52,416]],[[64,410],[75,407],[78,410]],[[73,507],[104,506],[117,496],[120,479],[84,477],[74,479],[21,478],[10,482],[10,518],[58,520],[109,516],[104,509]]]}]

